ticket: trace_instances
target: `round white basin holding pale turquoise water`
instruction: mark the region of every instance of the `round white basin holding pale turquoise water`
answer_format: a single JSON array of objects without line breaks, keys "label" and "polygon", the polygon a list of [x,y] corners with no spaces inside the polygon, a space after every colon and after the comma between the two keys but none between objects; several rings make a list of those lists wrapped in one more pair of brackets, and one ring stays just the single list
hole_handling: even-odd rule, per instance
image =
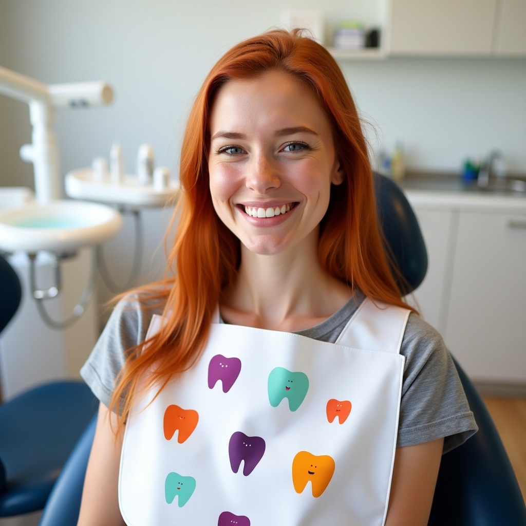
[{"label": "round white basin holding pale turquoise water", "polygon": [[56,200],[0,211],[0,250],[67,254],[99,245],[122,227],[120,214],[106,205]]}]

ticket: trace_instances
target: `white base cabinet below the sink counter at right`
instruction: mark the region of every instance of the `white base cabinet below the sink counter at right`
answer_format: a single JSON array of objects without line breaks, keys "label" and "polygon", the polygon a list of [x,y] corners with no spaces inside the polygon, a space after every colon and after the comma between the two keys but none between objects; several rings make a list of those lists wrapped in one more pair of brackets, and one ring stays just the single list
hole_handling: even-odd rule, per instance
[{"label": "white base cabinet below the sink counter at right", "polygon": [[526,200],[508,209],[407,194],[428,249],[414,292],[423,318],[473,380],[526,385]]}]

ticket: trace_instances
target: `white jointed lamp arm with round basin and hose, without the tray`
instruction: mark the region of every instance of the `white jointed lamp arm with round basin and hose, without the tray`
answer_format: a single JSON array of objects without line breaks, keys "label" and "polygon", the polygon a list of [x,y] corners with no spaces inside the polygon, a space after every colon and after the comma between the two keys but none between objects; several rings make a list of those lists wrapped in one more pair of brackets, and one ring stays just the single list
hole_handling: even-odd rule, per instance
[{"label": "white jointed lamp arm with round basin and hose, without the tray", "polygon": [[[0,250],[11,254],[22,251],[29,257],[30,282],[37,308],[48,325],[62,329],[84,312],[95,286],[95,272],[73,308],[63,321],[49,318],[42,300],[60,292],[60,260],[78,249],[96,246],[113,237],[122,227],[122,218],[104,205],[72,203],[62,199],[58,145],[53,132],[55,110],[84,108],[112,102],[112,88],[103,82],[46,85],[0,67],[0,94],[29,105],[32,144],[22,146],[23,160],[33,163],[36,201],[0,211]],[[49,252],[55,257],[55,284],[38,289],[35,278],[37,253]]]}]

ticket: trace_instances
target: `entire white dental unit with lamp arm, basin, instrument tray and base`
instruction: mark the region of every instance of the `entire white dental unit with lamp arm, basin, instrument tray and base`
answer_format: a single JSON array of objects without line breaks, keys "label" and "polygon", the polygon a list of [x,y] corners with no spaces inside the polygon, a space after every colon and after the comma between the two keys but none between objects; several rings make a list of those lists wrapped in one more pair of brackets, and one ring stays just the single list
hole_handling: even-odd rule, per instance
[{"label": "entire white dental unit with lamp arm, basin, instrument tray and base", "polygon": [[[112,292],[128,288],[141,266],[140,210],[175,200],[178,185],[167,168],[155,166],[149,145],[139,148],[137,175],[126,174],[123,149],[114,143],[109,163],[97,157],[91,167],[66,175],[66,195],[75,200],[63,198],[55,112],[107,105],[112,88],[103,82],[46,85],[0,67],[0,95],[29,106],[32,141],[20,155],[33,164],[35,181],[35,193],[0,188],[0,252],[24,290],[0,339],[0,387],[8,400],[43,381],[78,375],[98,337],[99,313],[90,301],[97,276]],[[130,277],[118,287],[109,278],[102,244],[118,234],[123,214],[133,215],[135,247]]]}]

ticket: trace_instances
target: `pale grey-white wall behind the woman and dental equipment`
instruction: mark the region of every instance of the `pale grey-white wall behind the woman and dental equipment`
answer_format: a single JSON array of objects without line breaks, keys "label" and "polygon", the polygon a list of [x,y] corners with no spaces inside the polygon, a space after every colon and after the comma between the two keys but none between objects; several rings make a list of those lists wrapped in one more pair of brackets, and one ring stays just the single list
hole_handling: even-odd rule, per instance
[{"label": "pale grey-white wall behind the woman and dental equipment", "polygon": [[[327,5],[326,5],[327,4]],[[0,65],[45,83],[108,80],[115,103],[61,110],[56,134],[63,173],[108,155],[114,139],[133,173],[141,143],[177,177],[188,108],[215,60],[240,39],[279,23],[284,8],[319,8],[327,33],[339,20],[377,21],[377,2],[362,0],[0,0]],[[498,147],[510,171],[526,173],[526,60],[391,58],[342,63],[373,146],[402,140],[412,170],[456,172],[467,156]],[[28,110],[0,96],[0,186],[32,184],[18,157],[29,140]],[[378,139],[376,139],[376,134]],[[159,275],[168,214],[146,214],[141,280]],[[124,280],[131,229],[110,243],[116,280]]]}]

